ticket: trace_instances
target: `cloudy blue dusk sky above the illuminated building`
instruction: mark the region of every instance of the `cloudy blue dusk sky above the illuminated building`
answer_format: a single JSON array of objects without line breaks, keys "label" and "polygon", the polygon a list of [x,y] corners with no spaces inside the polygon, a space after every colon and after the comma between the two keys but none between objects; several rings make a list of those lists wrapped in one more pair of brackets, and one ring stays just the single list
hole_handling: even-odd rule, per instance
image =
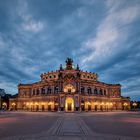
[{"label": "cloudy blue dusk sky above the illuminated building", "polygon": [[17,93],[67,57],[140,100],[140,1],[0,1],[0,88]]}]

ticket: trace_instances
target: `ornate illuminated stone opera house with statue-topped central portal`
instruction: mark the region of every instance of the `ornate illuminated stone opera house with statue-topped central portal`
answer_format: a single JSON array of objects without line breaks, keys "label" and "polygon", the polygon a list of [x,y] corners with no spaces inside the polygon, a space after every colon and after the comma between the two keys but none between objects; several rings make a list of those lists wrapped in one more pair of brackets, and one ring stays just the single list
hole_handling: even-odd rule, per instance
[{"label": "ornate illuminated stone opera house with statue-topped central portal", "polygon": [[33,84],[19,84],[18,98],[10,108],[28,111],[111,111],[129,110],[130,98],[121,96],[120,84],[98,81],[96,73],[84,72],[67,58],[66,67],[41,74]]}]

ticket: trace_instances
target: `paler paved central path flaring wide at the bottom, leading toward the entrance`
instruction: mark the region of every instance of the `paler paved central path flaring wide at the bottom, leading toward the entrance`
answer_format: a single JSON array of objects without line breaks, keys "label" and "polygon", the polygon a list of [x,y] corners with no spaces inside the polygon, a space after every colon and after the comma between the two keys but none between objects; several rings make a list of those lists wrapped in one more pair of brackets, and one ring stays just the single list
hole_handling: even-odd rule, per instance
[{"label": "paler paved central path flaring wide at the bottom, leading toward the entrance", "polygon": [[1,140],[138,140],[132,137],[101,134],[91,131],[74,113],[64,113],[48,131],[25,136],[12,136]]}]

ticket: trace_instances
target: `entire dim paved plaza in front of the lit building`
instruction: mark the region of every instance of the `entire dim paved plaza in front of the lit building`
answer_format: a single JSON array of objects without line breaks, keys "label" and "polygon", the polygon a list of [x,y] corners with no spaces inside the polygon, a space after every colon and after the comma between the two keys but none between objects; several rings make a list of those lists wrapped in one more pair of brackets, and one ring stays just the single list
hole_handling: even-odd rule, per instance
[{"label": "entire dim paved plaza in front of the lit building", "polygon": [[135,140],[139,132],[138,112],[0,114],[0,140]]}]

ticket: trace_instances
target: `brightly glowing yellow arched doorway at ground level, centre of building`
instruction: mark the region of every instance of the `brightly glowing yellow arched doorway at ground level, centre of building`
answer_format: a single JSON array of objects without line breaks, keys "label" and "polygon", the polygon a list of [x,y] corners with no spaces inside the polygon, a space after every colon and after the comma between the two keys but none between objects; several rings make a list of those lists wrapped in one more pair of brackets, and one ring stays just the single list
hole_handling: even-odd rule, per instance
[{"label": "brightly glowing yellow arched doorway at ground level, centre of building", "polygon": [[74,111],[74,100],[72,97],[66,98],[65,111],[66,112],[73,112]]}]

